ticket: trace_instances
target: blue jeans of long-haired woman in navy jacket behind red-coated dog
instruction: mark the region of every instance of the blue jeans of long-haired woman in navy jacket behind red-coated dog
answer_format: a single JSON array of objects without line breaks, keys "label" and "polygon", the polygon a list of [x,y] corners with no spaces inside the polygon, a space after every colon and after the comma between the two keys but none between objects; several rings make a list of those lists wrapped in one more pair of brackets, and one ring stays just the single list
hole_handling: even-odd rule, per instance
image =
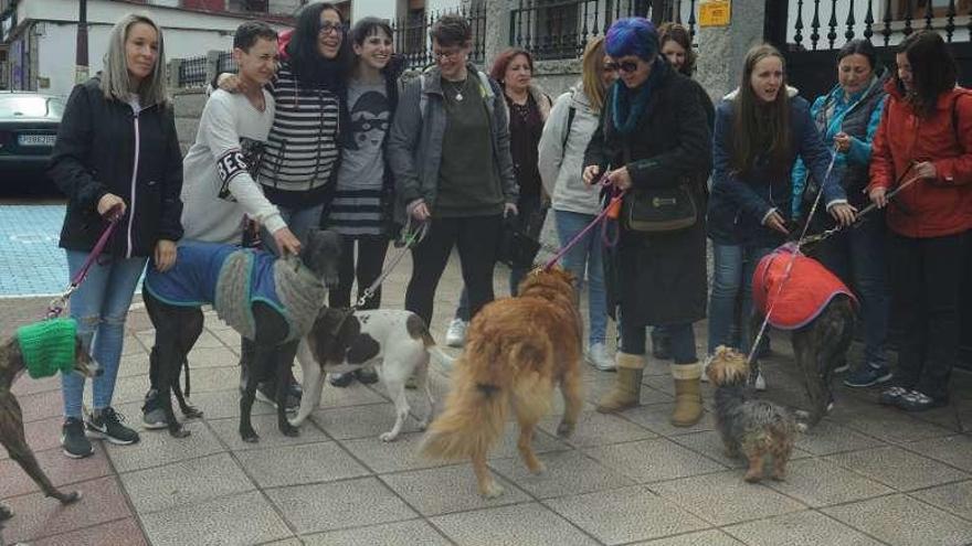
[{"label": "blue jeans of long-haired woman in navy jacket behind red-coated dog", "polygon": [[712,292],[709,295],[707,347],[709,354],[712,354],[719,345],[736,346],[732,343],[732,323],[736,320],[736,298],[740,290],[742,290],[742,306],[739,313],[741,334],[739,346],[736,349],[744,353],[749,352],[752,336],[749,328],[752,317],[752,272],[759,260],[772,250],[772,248],[712,244]]}]

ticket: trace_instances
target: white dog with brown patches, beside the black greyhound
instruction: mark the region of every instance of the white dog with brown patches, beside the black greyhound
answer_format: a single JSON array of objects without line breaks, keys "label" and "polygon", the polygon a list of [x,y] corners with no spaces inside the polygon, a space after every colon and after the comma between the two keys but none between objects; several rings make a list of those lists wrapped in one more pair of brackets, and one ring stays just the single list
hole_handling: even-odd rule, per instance
[{"label": "white dog with brown patches, beside the black greyhound", "polygon": [[424,430],[435,411],[435,399],[429,388],[429,350],[434,346],[429,326],[415,313],[323,309],[297,349],[297,362],[304,372],[304,397],[290,424],[300,425],[317,409],[328,373],[347,373],[370,364],[395,406],[394,426],[381,439],[394,441],[409,418],[405,382],[413,374],[429,399],[429,413],[419,420],[419,428]]}]

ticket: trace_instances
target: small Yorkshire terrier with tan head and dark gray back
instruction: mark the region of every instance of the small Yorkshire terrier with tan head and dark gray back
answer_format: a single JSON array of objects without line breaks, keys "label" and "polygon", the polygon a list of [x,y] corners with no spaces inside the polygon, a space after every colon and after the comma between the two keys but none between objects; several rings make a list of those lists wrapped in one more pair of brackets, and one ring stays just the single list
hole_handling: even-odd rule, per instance
[{"label": "small Yorkshire terrier with tan head and dark gray back", "polygon": [[763,462],[773,456],[773,480],[782,480],[799,430],[794,416],[782,406],[752,398],[747,385],[749,363],[738,351],[719,346],[706,370],[716,386],[716,428],[730,458],[746,456],[746,481],[763,478]]}]

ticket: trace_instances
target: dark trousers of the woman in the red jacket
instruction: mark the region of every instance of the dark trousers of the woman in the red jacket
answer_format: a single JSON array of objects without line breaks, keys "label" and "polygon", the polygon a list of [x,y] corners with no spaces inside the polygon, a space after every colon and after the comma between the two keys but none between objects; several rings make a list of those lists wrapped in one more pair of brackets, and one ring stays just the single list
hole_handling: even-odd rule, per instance
[{"label": "dark trousers of the woman in the red jacket", "polygon": [[891,234],[889,242],[891,302],[900,330],[896,383],[945,399],[959,357],[959,291],[969,233],[928,238]]}]

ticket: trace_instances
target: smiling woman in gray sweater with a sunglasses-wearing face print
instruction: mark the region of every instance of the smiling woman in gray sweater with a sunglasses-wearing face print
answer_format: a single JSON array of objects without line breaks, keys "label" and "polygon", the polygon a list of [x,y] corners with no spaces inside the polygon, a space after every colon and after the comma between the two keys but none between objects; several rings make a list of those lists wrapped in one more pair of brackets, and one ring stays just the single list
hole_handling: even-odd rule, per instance
[{"label": "smiling woman in gray sweater with a sunglasses-wearing face print", "polygon": [[[351,125],[341,135],[341,164],[337,192],[321,218],[321,225],[341,234],[339,283],[328,293],[328,304],[351,307],[351,286],[357,298],[374,283],[384,266],[390,237],[397,229],[390,216],[394,205],[394,178],[384,153],[388,128],[399,101],[398,77],[403,58],[393,55],[391,26],[381,19],[361,19],[351,29],[355,64],[348,77],[348,111]],[[356,257],[357,247],[357,257]],[[381,306],[381,286],[359,309]],[[345,374],[331,374],[336,387],[353,379],[374,383],[370,366]]]}]

